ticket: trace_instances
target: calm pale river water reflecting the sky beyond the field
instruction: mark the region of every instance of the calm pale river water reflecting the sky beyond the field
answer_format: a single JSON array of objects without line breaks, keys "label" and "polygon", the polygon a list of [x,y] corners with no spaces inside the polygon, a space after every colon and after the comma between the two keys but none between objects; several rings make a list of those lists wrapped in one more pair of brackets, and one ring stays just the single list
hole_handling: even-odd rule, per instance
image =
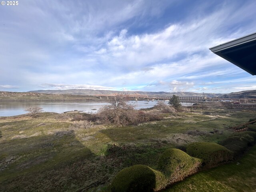
[{"label": "calm pale river water reflecting the sky beyond the field", "polygon": [[[136,109],[151,108],[158,103],[158,101],[130,101]],[[167,101],[165,101],[168,104]],[[32,106],[39,106],[45,112],[63,113],[65,111],[79,110],[86,113],[96,113],[98,109],[108,103],[94,102],[94,101],[80,101],[80,102],[0,102],[0,116],[14,116],[25,114],[24,109]],[[182,103],[184,106],[192,105],[192,103]],[[96,110],[93,110],[96,109]]]}]

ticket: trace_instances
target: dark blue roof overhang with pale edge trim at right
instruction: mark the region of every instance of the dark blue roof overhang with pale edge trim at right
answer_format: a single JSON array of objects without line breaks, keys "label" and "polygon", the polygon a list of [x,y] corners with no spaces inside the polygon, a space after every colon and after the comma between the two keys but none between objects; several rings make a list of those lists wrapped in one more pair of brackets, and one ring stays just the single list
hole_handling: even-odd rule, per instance
[{"label": "dark blue roof overhang with pale edge trim at right", "polygon": [[248,73],[256,75],[256,33],[214,46],[210,50]]}]

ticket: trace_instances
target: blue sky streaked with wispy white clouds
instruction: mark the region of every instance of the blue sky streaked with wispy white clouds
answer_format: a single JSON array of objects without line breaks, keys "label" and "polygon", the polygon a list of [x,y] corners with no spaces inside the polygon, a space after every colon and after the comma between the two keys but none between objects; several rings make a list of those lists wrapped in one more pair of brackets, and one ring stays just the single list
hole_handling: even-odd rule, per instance
[{"label": "blue sky streaked with wispy white clouds", "polygon": [[255,90],[209,50],[254,32],[255,0],[19,0],[0,5],[0,91]]}]

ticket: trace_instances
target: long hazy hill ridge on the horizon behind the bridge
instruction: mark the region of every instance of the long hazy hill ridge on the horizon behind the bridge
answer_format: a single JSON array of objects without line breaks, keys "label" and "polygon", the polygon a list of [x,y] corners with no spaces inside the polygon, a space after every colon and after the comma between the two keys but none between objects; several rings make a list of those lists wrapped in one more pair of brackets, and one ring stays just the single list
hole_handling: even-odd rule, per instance
[{"label": "long hazy hill ridge on the horizon behind the bridge", "polygon": [[173,94],[178,96],[206,96],[209,98],[256,98],[256,90],[247,90],[241,92],[232,92],[228,94],[220,93],[194,93],[194,92],[145,92],[145,91],[112,91],[112,90],[90,90],[90,89],[69,89],[69,90],[36,90],[30,91],[35,93],[44,94],[70,94],[70,95],[97,95],[97,94],[143,94],[148,96],[172,96]]}]

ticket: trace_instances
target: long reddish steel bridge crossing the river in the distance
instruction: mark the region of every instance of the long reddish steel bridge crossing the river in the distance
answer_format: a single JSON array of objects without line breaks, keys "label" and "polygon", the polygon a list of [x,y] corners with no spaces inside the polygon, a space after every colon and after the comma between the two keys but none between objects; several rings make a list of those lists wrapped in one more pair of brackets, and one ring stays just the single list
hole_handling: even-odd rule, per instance
[{"label": "long reddish steel bridge crossing the river in the distance", "polygon": [[[97,94],[95,97],[108,100],[112,97],[115,97],[118,94]],[[148,96],[144,94],[124,94],[124,96],[130,100],[157,100],[157,101],[168,101],[172,98],[172,96]],[[180,102],[256,102],[256,98],[208,98],[206,96],[180,96]]]}]

